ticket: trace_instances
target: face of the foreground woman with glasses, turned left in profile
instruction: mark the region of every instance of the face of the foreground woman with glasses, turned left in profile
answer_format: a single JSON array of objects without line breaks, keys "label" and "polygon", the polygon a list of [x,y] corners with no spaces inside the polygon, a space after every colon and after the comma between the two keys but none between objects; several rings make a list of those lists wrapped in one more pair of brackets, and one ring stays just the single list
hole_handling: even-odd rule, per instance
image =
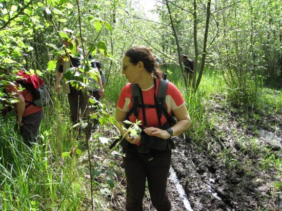
[{"label": "face of the foreground woman with glasses, turned left in profile", "polygon": [[124,56],[123,59],[123,74],[125,74],[130,83],[137,83],[139,78],[138,64],[132,64],[128,56]]}]

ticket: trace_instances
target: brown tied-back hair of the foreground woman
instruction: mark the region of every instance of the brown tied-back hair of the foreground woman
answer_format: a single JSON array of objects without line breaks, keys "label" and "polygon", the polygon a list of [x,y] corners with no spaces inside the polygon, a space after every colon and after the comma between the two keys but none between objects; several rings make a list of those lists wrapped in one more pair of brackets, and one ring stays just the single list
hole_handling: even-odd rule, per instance
[{"label": "brown tied-back hair of the foreground woman", "polygon": [[161,78],[163,72],[159,69],[156,70],[156,59],[152,54],[152,50],[146,48],[144,46],[135,46],[128,49],[125,52],[125,56],[129,57],[129,61],[133,65],[137,65],[139,61],[142,61],[144,64],[144,68],[148,73],[154,73],[154,76],[157,78]]}]

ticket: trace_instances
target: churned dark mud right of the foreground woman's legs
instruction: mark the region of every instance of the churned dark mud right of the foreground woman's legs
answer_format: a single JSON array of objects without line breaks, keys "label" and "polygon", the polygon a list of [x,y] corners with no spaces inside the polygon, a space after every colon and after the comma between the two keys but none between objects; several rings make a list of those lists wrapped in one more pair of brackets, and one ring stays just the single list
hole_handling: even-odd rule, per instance
[{"label": "churned dark mud right of the foreground woman's legs", "polygon": [[281,158],[281,114],[247,119],[220,100],[206,107],[214,122],[203,140],[176,140],[172,166],[192,209],[281,210],[281,166],[266,156]]}]

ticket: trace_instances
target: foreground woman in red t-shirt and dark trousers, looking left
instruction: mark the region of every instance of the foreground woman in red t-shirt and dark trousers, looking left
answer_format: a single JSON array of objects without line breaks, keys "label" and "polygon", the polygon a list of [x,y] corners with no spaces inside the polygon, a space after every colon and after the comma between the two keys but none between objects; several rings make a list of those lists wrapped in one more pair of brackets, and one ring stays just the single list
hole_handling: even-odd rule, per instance
[{"label": "foreground woman in red t-shirt and dark trousers, looking left", "polygon": [[[150,49],[142,46],[130,48],[126,51],[123,58],[123,74],[126,75],[128,83],[120,93],[117,109],[116,120],[119,123],[118,129],[120,135],[124,136],[126,130],[125,123],[127,114],[133,106],[131,84],[137,83],[142,90],[144,104],[153,105],[155,96],[158,92],[158,84],[162,73],[155,70],[156,61]],[[170,210],[171,202],[167,194],[167,178],[171,162],[171,149],[157,150],[149,147],[149,152],[142,153],[138,149],[140,140],[146,142],[144,138],[157,137],[160,140],[167,141],[172,136],[178,136],[189,128],[191,121],[184,99],[179,90],[169,82],[166,92],[167,113],[175,115],[177,123],[166,130],[160,129],[159,125],[166,122],[165,116],[157,118],[156,108],[146,108],[138,110],[138,120],[142,120],[143,135],[134,137],[127,135],[128,141],[123,157],[126,179],[127,179],[127,210],[143,210],[143,197],[145,194],[146,179],[153,206],[157,210]],[[144,117],[145,115],[145,117]],[[135,122],[136,116],[129,116],[131,122]],[[144,125],[146,122],[146,125]],[[147,159],[149,156],[149,159]]]}]

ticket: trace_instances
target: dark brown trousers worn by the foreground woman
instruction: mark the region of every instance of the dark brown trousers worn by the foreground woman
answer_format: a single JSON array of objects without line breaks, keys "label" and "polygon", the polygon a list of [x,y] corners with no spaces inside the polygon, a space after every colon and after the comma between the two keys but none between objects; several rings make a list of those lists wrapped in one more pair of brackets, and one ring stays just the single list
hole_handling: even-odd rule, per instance
[{"label": "dark brown trousers worn by the foreground woman", "polygon": [[123,158],[123,161],[127,181],[126,210],[143,210],[147,178],[153,206],[158,211],[169,211],[171,202],[167,193],[167,178],[171,162],[171,150],[151,149],[150,153],[145,154],[139,153],[136,145],[129,144],[124,151],[126,157]]}]

